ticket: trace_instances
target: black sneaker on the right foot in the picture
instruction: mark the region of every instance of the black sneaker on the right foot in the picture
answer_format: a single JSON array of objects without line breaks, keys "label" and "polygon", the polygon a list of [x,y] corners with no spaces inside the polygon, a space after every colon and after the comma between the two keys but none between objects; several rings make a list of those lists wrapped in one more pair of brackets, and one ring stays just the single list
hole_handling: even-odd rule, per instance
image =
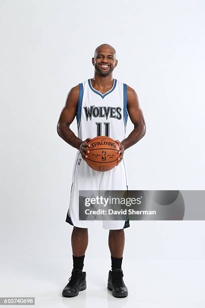
[{"label": "black sneaker on the right foot in the picture", "polygon": [[115,297],[128,296],[128,289],[123,281],[122,269],[114,269],[108,275],[108,289],[113,291]]}]

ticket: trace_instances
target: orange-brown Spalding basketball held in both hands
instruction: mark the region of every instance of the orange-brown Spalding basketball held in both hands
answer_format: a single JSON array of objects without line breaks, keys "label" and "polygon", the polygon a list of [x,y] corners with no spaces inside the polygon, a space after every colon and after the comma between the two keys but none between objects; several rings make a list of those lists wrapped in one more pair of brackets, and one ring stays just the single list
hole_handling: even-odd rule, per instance
[{"label": "orange-brown Spalding basketball held in both hands", "polygon": [[118,162],[120,149],[118,143],[107,136],[97,136],[92,138],[89,153],[87,153],[86,162],[89,167],[96,171],[109,171],[113,169]]}]

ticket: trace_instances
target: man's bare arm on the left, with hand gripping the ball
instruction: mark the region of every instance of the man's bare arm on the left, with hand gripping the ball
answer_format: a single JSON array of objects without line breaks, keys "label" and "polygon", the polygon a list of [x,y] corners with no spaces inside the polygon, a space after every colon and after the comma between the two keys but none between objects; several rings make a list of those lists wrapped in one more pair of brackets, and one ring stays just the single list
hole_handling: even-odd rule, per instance
[{"label": "man's bare arm on the left, with hand gripping the ball", "polygon": [[88,146],[86,141],[90,138],[82,141],[70,129],[70,124],[73,122],[77,113],[78,97],[79,86],[76,86],[68,93],[65,107],[63,108],[58,121],[57,132],[65,142],[80,150],[82,158],[85,159],[86,152],[89,152],[86,149]]}]

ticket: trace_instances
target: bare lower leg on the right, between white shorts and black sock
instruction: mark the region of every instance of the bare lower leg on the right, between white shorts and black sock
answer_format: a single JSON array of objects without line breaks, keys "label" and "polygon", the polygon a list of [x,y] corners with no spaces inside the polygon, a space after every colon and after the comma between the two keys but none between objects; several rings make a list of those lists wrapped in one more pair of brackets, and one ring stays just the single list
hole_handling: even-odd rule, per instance
[{"label": "bare lower leg on the right, between white shorts and black sock", "polygon": [[125,246],[124,229],[110,230],[109,232],[109,248],[111,256],[114,258],[122,258]]}]

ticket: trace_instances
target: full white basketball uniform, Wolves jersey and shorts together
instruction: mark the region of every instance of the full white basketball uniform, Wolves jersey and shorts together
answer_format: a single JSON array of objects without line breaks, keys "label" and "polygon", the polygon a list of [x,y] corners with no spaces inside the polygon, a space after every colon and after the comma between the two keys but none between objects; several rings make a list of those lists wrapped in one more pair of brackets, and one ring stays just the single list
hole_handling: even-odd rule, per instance
[{"label": "full white basketball uniform, Wolves jersey and shorts together", "polygon": [[[105,94],[93,89],[90,80],[79,84],[77,108],[78,137],[109,136],[122,141],[125,139],[127,123],[127,85],[114,79],[113,87]],[[66,221],[71,225],[87,228],[93,220],[79,219],[80,190],[127,190],[127,172],[125,156],[118,167],[106,172],[91,169],[82,159],[80,151],[76,153],[73,166],[72,186]],[[103,220],[104,229],[122,229],[129,227],[126,220]]]}]

